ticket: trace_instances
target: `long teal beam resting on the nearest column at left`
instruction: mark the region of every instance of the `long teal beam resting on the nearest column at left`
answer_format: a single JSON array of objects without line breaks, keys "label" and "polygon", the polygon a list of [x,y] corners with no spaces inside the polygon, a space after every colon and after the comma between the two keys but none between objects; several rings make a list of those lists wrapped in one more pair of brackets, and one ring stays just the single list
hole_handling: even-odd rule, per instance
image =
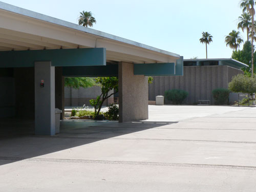
[{"label": "long teal beam resting on the nearest column at left", "polygon": [[34,67],[35,61],[51,61],[52,66],[105,66],[105,48],[1,51],[0,68]]}]

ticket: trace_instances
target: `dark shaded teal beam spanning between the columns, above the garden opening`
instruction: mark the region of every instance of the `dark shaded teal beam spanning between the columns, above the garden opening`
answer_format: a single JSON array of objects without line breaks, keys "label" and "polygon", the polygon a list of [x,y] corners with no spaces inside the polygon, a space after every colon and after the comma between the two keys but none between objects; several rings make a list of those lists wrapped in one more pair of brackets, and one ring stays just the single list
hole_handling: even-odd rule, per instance
[{"label": "dark shaded teal beam spanning between the columns, above the garden opening", "polygon": [[118,76],[118,65],[62,67],[65,77],[108,77]]}]

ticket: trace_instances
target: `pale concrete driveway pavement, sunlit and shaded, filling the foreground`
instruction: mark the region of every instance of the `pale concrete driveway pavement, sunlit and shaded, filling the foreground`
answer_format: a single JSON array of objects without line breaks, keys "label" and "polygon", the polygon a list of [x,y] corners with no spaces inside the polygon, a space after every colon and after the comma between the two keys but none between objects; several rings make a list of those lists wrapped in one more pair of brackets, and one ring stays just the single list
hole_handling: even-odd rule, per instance
[{"label": "pale concrete driveway pavement, sunlit and shaded, filling the foreground", "polygon": [[141,122],[62,121],[0,145],[0,191],[253,191],[256,108],[150,106]]}]

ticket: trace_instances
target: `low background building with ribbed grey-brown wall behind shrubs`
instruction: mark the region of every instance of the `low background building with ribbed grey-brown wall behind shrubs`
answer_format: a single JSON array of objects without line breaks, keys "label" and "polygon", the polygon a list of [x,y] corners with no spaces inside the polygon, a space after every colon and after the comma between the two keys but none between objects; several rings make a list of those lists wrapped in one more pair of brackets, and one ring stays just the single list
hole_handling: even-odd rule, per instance
[{"label": "low background building with ribbed grey-brown wall behind shrubs", "polygon": [[[214,104],[212,90],[227,89],[232,77],[243,73],[243,67],[248,66],[234,59],[184,59],[183,76],[154,76],[148,86],[148,99],[154,101],[166,90],[180,89],[188,92],[185,104],[197,104],[198,100]],[[237,99],[235,95],[231,95],[230,101]]]}]

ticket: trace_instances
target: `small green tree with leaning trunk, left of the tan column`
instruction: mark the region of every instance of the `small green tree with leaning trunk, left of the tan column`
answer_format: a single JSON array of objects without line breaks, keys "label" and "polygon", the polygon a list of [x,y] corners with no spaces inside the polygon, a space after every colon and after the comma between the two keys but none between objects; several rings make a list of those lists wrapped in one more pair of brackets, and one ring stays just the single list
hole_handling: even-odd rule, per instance
[{"label": "small green tree with leaning trunk, left of the tan column", "polygon": [[[96,99],[91,99],[90,104],[94,106],[95,117],[99,115],[103,102],[118,92],[118,78],[117,77],[97,77],[96,83],[101,86],[101,95]],[[114,93],[109,95],[109,92],[114,90]]]}]

